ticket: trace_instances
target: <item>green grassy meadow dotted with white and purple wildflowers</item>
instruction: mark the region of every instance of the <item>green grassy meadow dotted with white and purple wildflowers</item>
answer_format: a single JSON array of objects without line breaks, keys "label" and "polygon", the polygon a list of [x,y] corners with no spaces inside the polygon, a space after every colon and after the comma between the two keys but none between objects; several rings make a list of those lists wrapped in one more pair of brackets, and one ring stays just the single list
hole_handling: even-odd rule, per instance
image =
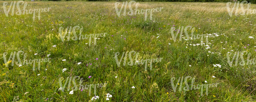
[{"label": "green grassy meadow dotted with white and purple wildflowers", "polygon": [[[0,1],[0,101],[87,102],[96,96],[99,97],[97,102],[256,101],[255,14],[230,16],[226,3],[139,2],[138,9],[163,7],[152,13],[151,20],[149,16],[145,20],[145,15],[139,14],[124,16],[121,12],[118,16],[115,2],[28,1],[26,9],[50,7],[49,11],[40,14],[40,20],[37,13],[33,20],[33,14],[11,16],[12,9],[6,16],[4,2]],[[10,4],[11,1],[7,1],[7,10]],[[250,9],[256,9],[256,5],[251,4]],[[70,26],[76,35],[105,34],[62,40],[65,29],[74,36],[72,30],[68,31]],[[208,46],[206,39],[192,37],[187,40],[185,35],[181,39],[178,35],[174,41],[171,29],[175,27],[176,34],[181,26],[194,27],[196,35],[208,35]],[[193,32],[191,29],[187,31],[189,34]],[[17,54],[22,66],[19,66],[17,56],[9,58],[18,51],[22,52]],[[137,60],[135,53],[130,60],[128,54],[131,51],[139,53],[138,60],[162,59],[153,62],[152,67],[150,63],[129,66],[129,61]],[[237,55],[240,58],[236,60],[236,57],[230,66],[228,57],[232,60],[237,51],[247,53]],[[123,66],[126,52],[128,58]],[[115,56],[117,53],[119,55]],[[49,60],[40,64],[23,63],[23,60],[42,58]],[[243,58],[245,62],[248,62],[247,58],[251,62],[241,65]],[[194,77],[194,84],[218,84],[208,89],[184,91],[186,83],[191,87],[193,81],[177,82],[182,76]],[[177,83],[175,92],[173,78],[176,78],[175,86]],[[80,89],[79,82],[84,87],[87,85],[87,89]]]}]

